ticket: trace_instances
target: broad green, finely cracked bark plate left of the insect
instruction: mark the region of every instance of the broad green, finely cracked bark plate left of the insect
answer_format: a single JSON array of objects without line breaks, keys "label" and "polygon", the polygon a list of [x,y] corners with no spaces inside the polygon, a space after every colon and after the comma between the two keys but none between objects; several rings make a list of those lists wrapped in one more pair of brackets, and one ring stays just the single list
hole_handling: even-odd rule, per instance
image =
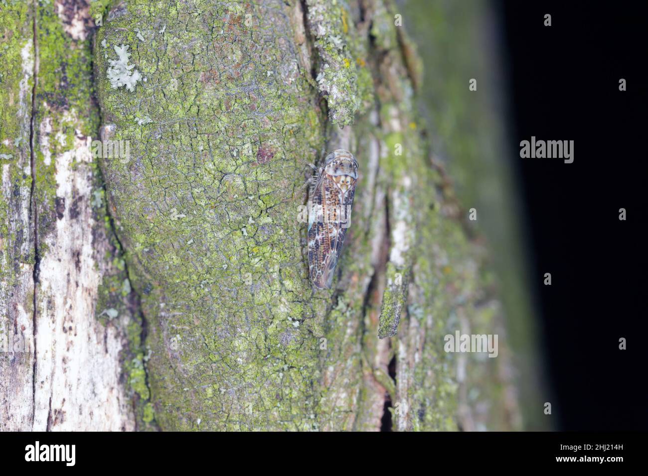
[{"label": "broad green, finely cracked bark plate left of the insect", "polygon": [[[98,90],[131,160],[102,168],[148,323],[156,418],[312,429],[325,301],[308,302],[294,198],[322,128],[284,7],[130,2],[112,16],[95,40]],[[104,52],[121,44],[145,76],[134,93],[106,78]]]}]

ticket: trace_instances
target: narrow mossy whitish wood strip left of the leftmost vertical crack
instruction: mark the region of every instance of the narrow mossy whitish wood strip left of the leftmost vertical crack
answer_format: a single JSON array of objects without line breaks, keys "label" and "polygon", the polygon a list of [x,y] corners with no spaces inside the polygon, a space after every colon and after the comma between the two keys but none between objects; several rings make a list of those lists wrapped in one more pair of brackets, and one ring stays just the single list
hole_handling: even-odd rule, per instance
[{"label": "narrow mossy whitish wood strip left of the leftmost vertical crack", "polygon": [[[29,422],[32,389],[34,234],[29,124],[34,69],[33,15],[24,2],[0,6],[0,430]],[[25,352],[26,349],[31,350]]]}]

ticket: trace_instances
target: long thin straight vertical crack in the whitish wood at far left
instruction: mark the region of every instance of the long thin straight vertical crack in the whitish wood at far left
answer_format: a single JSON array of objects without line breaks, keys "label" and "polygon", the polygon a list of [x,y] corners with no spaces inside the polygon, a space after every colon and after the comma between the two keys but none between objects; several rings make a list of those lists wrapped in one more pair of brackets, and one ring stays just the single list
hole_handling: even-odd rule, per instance
[{"label": "long thin straight vertical crack in the whitish wood at far left", "polygon": [[36,191],[36,144],[34,141],[35,132],[34,132],[34,122],[36,121],[36,91],[38,88],[38,24],[36,23],[36,18],[38,17],[38,2],[34,1],[33,3],[34,10],[34,21],[32,23],[32,32],[33,32],[33,43],[34,43],[34,85],[32,86],[32,111],[29,118],[29,164],[32,174],[32,183],[29,191],[29,219],[34,223],[34,269],[32,271],[32,280],[34,283],[34,293],[32,299],[32,337],[34,338],[34,367],[32,368],[32,398],[33,398],[33,414],[32,418],[36,418],[36,356],[38,348],[36,345],[36,319],[37,319],[37,289],[38,289],[38,274],[40,267],[40,256],[38,251],[38,207],[36,206],[34,197],[34,192]]}]

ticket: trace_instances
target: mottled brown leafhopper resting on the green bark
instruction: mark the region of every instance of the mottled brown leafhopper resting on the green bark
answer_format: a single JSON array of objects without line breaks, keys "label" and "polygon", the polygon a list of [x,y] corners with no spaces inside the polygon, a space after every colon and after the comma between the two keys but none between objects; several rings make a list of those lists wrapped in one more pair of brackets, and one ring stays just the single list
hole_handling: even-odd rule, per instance
[{"label": "mottled brown leafhopper resting on the green bark", "polygon": [[330,288],[347,228],[351,225],[358,162],[336,149],[315,177],[308,201],[308,270],[314,286]]}]

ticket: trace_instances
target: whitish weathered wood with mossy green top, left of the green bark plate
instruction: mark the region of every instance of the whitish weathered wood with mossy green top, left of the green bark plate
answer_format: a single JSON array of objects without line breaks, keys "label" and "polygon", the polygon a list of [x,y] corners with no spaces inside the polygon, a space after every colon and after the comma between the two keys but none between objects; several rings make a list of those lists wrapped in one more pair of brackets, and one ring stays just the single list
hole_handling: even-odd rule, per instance
[{"label": "whitish weathered wood with mossy green top, left of the green bark plate", "polygon": [[88,6],[1,8],[1,429],[132,429],[126,334],[95,319],[113,249],[86,147],[98,122]]}]

